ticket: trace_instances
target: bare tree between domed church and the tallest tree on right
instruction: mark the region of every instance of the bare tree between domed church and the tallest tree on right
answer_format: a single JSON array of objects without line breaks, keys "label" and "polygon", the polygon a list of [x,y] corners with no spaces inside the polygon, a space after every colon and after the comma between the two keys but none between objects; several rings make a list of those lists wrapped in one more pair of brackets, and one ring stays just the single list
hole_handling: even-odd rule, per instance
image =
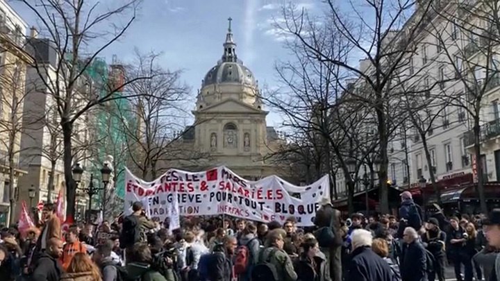
[{"label": "bare tree between domed church and the tallest tree on right", "polygon": [[[319,51],[335,61],[345,61],[349,44],[339,40],[340,34],[335,35],[330,28],[311,25],[303,32],[316,34]],[[303,155],[305,148],[307,157],[315,155],[317,176],[332,174],[335,158],[347,182],[348,206],[353,212],[358,171],[377,146],[374,135],[362,133],[373,125],[373,116],[364,104],[353,102],[351,94],[340,87],[338,80],[344,73],[338,65],[312,56],[301,44],[288,42],[285,46],[294,58],[276,65],[283,88],[267,94],[266,100],[284,114],[285,128],[305,136],[302,142],[306,146],[299,146],[299,153]]]}]

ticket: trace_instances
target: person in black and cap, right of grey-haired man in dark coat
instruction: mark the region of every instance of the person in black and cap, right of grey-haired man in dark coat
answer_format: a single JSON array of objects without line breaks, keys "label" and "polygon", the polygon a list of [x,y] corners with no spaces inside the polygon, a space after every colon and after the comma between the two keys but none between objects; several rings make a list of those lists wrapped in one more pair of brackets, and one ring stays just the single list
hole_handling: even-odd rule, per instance
[{"label": "person in black and cap, right of grey-haired man in dark coat", "polygon": [[444,244],[446,233],[440,229],[439,221],[435,218],[428,219],[425,228],[426,233],[422,235],[422,243],[435,259],[434,268],[428,273],[428,281],[434,281],[436,274],[437,280],[444,281],[444,259],[446,258]]}]

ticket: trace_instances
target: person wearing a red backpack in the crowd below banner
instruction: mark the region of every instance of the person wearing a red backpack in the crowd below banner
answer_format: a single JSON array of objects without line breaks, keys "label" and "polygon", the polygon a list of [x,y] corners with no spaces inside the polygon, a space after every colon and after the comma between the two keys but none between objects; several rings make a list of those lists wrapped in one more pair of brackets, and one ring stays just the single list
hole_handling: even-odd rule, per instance
[{"label": "person wearing a red backpack in the crowd below banner", "polygon": [[240,281],[247,281],[250,280],[251,269],[258,261],[260,250],[256,225],[251,222],[245,225],[238,244],[240,246],[236,248],[234,262],[235,274],[238,275]]}]

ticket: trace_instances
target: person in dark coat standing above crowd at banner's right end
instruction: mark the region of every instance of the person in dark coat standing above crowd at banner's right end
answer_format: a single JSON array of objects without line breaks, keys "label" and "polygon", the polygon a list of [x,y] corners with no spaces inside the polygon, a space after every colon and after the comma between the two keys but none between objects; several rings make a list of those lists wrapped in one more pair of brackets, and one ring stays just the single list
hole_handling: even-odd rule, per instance
[{"label": "person in dark coat standing above crowd at banner's right end", "polygon": [[321,248],[326,260],[330,263],[326,266],[326,280],[342,281],[342,235],[340,234],[340,211],[333,208],[330,198],[324,197],[321,207],[316,211],[314,224],[318,228],[333,228],[335,233],[335,246],[331,248]]}]

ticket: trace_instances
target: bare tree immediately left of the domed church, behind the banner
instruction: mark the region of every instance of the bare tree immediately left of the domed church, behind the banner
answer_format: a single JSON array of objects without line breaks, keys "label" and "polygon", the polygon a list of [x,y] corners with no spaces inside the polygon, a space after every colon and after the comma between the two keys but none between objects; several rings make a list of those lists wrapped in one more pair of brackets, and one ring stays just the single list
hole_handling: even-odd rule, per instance
[{"label": "bare tree immediately left of the domed church, behind the banner", "polygon": [[136,61],[127,71],[129,78],[153,78],[131,83],[131,92],[136,93],[132,108],[119,113],[131,168],[138,170],[142,178],[153,180],[169,163],[197,160],[200,154],[180,142],[184,134],[190,133],[183,126],[188,87],[179,80],[181,71],[160,67],[157,53],[136,53]]}]

